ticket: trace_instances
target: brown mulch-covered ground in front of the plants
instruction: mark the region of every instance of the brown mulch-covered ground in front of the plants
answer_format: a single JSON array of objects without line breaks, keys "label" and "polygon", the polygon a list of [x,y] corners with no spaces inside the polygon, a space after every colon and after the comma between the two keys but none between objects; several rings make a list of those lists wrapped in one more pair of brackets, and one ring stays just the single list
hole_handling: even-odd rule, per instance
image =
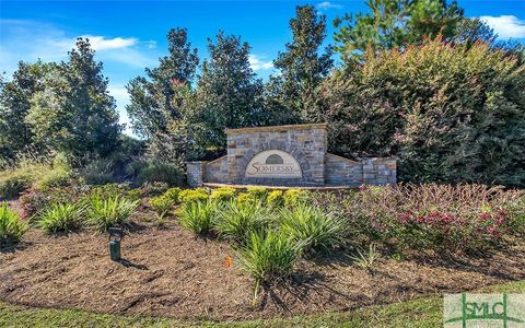
[{"label": "brown mulch-covered ground in front of the plants", "polygon": [[[252,281],[225,243],[195,238],[171,222],[138,224],[122,241],[126,262],[112,262],[107,235],[47,236],[31,230],[18,248],[0,251],[0,301],[38,307],[178,318],[248,319],[346,311],[422,295],[525,279],[525,245],[478,259],[382,259],[375,272],[345,256],[301,262],[285,284],[252,305]],[[343,260],[340,260],[340,259]]]}]

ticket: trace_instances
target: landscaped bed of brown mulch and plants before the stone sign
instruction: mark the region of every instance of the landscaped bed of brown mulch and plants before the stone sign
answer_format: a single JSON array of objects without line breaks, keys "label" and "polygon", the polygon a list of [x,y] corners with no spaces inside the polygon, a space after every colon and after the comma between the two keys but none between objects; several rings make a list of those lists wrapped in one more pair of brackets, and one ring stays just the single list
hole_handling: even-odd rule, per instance
[{"label": "landscaped bed of brown mulch and plants before the stone sign", "polygon": [[[137,195],[129,194],[121,199],[132,202]],[[525,279],[517,191],[407,186],[343,195],[159,194],[122,221],[122,262],[109,260],[105,225],[90,223],[93,204],[85,206],[81,227],[35,227],[20,243],[3,245],[0,301],[246,319],[347,311]],[[268,262],[277,265],[254,270],[268,269]]]}]

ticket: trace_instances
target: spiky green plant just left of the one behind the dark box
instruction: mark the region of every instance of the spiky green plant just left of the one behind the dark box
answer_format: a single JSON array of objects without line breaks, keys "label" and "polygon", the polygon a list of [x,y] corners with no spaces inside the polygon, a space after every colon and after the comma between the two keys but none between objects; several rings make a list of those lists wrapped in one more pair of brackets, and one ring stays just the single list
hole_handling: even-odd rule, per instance
[{"label": "spiky green plant just left of the one behind the dark box", "polygon": [[36,226],[50,234],[73,231],[82,225],[85,210],[83,202],[51,203],[38,213]]}]

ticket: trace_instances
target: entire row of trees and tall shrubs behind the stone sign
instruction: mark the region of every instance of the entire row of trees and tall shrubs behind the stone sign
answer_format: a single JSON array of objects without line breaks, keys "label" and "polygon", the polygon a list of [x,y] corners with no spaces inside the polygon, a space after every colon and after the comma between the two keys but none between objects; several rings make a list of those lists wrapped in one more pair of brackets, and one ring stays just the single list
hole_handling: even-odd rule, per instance
[{"label": "entire row of trees and tall shrubs behind the stone sign", "polygon": [[[292,39],[265,83],[249,45],[219,32],[201,62],[185,28],[168,54],[127,85],[127,112],[145,156],[170,163],[225,152],[226,128],[329,124],[332,152],[395,155],[401,180],[525,186],[525,66],[518,43],[499,42],[455,1],[369,0],[369,13],[334,22],[296,8]],[[104,157],[122,148],[115,102],[89,40],[61,63],[19,65],[1,83],[0,156]],[[340,62],[335,63],[336,56]],[[81,161],[82,162],[82,161]]]}]

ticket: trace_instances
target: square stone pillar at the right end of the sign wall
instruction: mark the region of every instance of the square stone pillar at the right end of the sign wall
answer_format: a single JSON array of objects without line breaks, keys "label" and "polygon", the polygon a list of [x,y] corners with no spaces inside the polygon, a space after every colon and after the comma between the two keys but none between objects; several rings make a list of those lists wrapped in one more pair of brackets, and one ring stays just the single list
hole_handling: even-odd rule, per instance
[{"label": "square stone pillar at the right end of the sign wall", "polygon": [[397,183],[397,164],[394,157],[363,159],[363,184],[395,185]]}]

